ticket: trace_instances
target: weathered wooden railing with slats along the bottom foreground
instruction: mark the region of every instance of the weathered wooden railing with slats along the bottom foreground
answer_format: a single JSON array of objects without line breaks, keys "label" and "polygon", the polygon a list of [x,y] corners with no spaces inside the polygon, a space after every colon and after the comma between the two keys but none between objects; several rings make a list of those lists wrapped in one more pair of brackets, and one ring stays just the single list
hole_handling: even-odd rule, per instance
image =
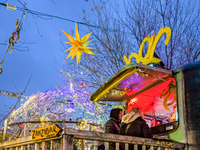
[{"label": "weathered wooden railing with slats along the bottom foreground", "polygon": [[[85,130],[76,130],[72,128],[65,128],[60,136],[43,139],[32,140],[31,136],[18,138],[15,140],[4,141],[0,143],[0,149],[5,150],[73,150],[74,139],[80,139],[82,142],[81,149],[98,149],[98,141],[104,142],[105,150],[109,149],[109,142],[116,143],[116,150],[119,150],[119,143],[125,144],[125,150],[128,150],[129,144],[134,144],[134,150],[137,150],[138,145],[142,145],[142,149],[145,150],[146,146],[149,146],[150,150],[169,150],[169,149],[184,149],[184,144],[164,139],[151,139],[151,138],[139,138],[131,136],[122,136],[116,134],[107,134],[101,132],[92,132]],[[60,147],[56,148],[56,141],[60,141]],[[93,146],[88,147],[86,141],[90,142]]]}]

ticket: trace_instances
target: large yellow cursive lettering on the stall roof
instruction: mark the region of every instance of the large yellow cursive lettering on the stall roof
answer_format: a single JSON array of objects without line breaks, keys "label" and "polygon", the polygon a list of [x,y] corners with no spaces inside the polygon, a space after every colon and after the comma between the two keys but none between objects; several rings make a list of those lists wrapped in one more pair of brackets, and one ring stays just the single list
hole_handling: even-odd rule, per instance
[{"label": "large yellow cursive lettering on the stall roof", "polygon": [[[164,33],[167,34],[166,39],[165,39],[165,45],[168,45],[172,32],[169,27],[162,27],[156,37],[154,35],[151,35],[151,37],[147,36],[144,38],[144,40],[142,41],[142,43],[140,45],[139,54],[132,53],[129,56],[129,58],[127,58],[126,55],[123,56],[123,59],[126,62],[126,64],[131,63],[132,57],[136,58],[137,63],[142,63],[144,65],[147,65],[149,63],[155,63],[155,64],[159,63],[161,60],[159,58],[154,58],[153,55],[154,55],[155,48],[158,44],[158,41]],[[142,57],[143,46],[144,46],[145,42],[147,42],[147,41],[149,43],[147,54],[145,55],[145,57]]]}]

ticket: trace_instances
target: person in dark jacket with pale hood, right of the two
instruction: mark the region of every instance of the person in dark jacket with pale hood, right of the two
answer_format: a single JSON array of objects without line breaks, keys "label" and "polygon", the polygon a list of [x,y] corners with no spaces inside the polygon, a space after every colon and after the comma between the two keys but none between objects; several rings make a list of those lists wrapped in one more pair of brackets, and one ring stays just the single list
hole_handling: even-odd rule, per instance
[{"label": "person in dark jacket with pale hood, right of the two", "polygon": [[[153,135],[146,121],[143,119],[139,108],[132,108],[126,115],[123,116],[123,122],[120,127],[121,135],[137,136],[143,138],[152,138]],[[133,150],[134,145],[129,144],[129,150]],[[138,150],[142,149],[141,145]]]}]

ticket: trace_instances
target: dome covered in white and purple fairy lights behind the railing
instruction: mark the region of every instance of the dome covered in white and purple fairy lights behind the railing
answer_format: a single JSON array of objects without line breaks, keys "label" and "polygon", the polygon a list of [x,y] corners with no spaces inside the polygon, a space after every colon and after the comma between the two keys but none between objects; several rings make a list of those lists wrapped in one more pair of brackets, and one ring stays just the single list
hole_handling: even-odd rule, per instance
[{"label": "dome covered in white and purple fairy lights behind the railing", "polygon": [[15,133],[19,134],[19,131],[22,134],[53,123],[61,127],[99,130],[97,127],[105,124],[108,119],[107,111],[89,100],[89,90],[84,86],[79,86],[76,90],[60,88],[30,96],[6,122],[13,136]]}]

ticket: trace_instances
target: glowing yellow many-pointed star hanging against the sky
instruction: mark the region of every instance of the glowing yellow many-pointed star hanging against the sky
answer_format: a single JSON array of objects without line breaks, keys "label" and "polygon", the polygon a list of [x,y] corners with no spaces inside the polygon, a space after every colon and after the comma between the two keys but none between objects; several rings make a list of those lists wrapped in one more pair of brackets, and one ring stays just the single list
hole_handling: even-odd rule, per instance
[{"label": "glowing yellow many-pointed star hanging against the sky", "polygon": [[67,36],[67,38],[70,40],[70,42],[65,42],[65,43],[68,43],[68,44],[72,45],[72,47],[70,47],[69,49],[66,50],[66,51],[71,50],[69,55],[67,56],[67,58],[72,56],[71,59],[73,59],[74,56],[76,55],[77,64],[79,64],[80,60],[81,60],[82,52],[87,53],[87,54],[95,55],[92,51],[89,50],[89,49],[93,49],[93,48],[92,47],[87,47],[88,43],[91,41],[91,40],[89,40],[89,41],[87,41],[87,40],[90,37],[90,35],[92,34],[92,32],[87,34],[87,35],[85,35],[84,37],[82,37],[80,39],[76,22],[75,22],[75,38],[73,38],[71,35],[69,35],[65,31],[63,31],[63,32]]}]

